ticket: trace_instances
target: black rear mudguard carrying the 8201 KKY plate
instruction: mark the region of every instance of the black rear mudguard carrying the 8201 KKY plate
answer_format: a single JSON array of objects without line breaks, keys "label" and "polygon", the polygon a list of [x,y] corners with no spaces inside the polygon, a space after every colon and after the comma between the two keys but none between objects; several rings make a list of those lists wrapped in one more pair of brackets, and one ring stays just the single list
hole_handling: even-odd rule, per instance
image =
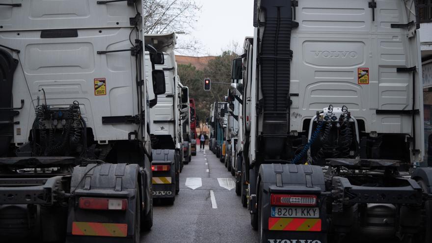
[{"label": "black rear mudguard carrying the 8201 KKY plate", "polygon": [[[259,176],[261,188],[257,193],[263,193],[262,201],[260,201],[262,205],[258,205],[258,208],[263,210],[261,212],[262,221],[258,222],[262,223],[262,242],[327,243],[327,215],[325,196],[322,194],[325,191],[324,173],[320,166],[262,164]],[[272,215],[270,194],[277,193],[317,195],[320,216],[317,218],[290,218]]]}]

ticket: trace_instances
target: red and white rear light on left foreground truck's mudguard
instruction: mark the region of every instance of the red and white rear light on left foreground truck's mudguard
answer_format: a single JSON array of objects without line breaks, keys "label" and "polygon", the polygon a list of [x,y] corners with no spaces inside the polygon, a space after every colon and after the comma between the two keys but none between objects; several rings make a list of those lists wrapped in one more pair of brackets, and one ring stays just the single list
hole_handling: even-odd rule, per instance
[{"label": "red and white rear light on left foreground truck's mudguard", "polygon": [[128,209],[128,200],[116,198],[81,197],[79,201],[79,207],[80,209],[125,211]]}]

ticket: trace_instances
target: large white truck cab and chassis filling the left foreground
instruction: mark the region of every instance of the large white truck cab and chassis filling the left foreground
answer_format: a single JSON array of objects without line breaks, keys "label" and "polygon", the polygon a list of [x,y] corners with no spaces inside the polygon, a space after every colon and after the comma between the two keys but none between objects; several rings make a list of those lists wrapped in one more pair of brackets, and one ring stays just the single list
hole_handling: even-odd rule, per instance
[{"label": "large white truck cab and chassis filling the left foreground", "polygon": [[142,2],[1,1],[1,239],[138,243],[152,227],[144,50],[163,55]]}]

